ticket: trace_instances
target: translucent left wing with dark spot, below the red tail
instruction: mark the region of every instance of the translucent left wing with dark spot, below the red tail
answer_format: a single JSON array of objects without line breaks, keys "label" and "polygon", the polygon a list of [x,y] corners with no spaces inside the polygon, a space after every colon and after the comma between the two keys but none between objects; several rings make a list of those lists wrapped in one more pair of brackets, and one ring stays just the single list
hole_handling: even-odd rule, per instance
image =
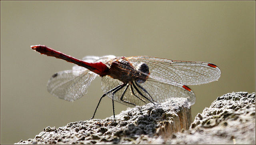
[{"label": "translucent left wing with dark spot, below the red tail", "polygon": [[87,87],[96,76],[87,69],[58,72],[48,81],[47,89],[60,99],[74,101],[87,93]]}]

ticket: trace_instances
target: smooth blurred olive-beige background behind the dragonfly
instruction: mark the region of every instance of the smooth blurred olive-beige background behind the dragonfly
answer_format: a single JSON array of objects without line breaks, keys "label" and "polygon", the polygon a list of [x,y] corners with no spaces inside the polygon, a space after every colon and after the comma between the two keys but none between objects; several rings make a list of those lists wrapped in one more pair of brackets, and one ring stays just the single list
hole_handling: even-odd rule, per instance
[{"label": "smooth blurred olive-beige background behind the dragonfly", "polygon": [[[255,1],[1,1],[1,144],[88,120],[103,94],[100,77],[74,102],[48,93],[48,79],[73,64],[30,49],[38,44],[78,59],[155,56],[216,64],[218,81],[189,86],[196,94],[193,120],[219,96],[255,92]],[[119,114],[127,106],[115,108]],[[112,115],[105,97],[95,119]]]}]

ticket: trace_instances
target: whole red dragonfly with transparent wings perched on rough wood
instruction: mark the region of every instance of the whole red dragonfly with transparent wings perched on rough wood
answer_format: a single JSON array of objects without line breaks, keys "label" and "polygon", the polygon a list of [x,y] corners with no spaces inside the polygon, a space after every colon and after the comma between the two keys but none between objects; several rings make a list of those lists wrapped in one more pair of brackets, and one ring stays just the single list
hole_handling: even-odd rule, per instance
[{"label": "whole red dragonfly with transparent wings perched on rough wood", "polygon": [[48,81],[48,91],[60,99],[79,99],[87,93],[87,87],[96,76],[102,77],[104,94],[100,101],[106,95],[112,99],[114,118],[114,101],[134,107],[179,97],[184,98],[184,106],[189,107],[195,103],[196,97],[186,85],[210,83],[220,77],[220,69],[208,62],[174,61],[151,56],[86,56],[78,60],[46,46],[31,48],[77,65],[72,70],[55,73]]}]

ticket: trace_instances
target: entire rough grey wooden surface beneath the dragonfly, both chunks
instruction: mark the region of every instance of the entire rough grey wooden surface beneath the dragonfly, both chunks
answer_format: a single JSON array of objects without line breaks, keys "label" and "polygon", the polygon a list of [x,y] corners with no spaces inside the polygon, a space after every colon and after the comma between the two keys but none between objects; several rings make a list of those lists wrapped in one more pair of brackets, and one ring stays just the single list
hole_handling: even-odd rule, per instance
[{"label": "entire rough grey wooden surface beneath the dragonfly, both chunks", "polygon": [[46,127],[17,144],[255,144],[255,93],[228,93],[193,123],[183,99],[130,108],[113,118]]}]

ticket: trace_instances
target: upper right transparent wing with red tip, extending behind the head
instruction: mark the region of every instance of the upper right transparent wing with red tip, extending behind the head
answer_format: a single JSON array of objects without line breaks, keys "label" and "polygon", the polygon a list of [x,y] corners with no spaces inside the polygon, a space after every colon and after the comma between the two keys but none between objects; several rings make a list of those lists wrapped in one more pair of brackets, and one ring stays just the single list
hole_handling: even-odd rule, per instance
[{"label": "upper right transparent wing with red tip, extending behind the head", "polygon": [[207,62],[173,61],[151,56],[126,58],[135,66],[145,63],[150,75],[175,81],[184,85],[199,85],[218,80],[220,69]]}]

